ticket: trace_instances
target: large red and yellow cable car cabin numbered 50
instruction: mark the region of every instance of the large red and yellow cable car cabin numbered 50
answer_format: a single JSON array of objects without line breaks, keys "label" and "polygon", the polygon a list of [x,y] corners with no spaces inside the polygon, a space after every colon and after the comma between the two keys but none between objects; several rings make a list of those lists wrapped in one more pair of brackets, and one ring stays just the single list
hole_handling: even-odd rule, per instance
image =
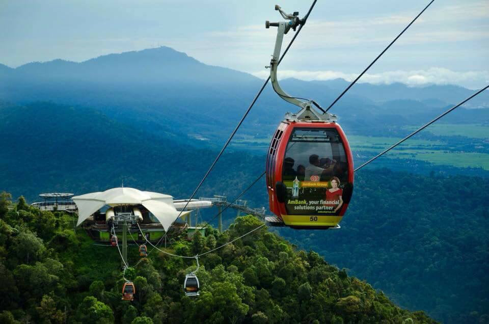
[{"label": "large red and yellow cable car cabin numbered 50", "polygon": [[266,184],[278,220],[267,221],[296,229],[339,228],[353,179],[353,158],[340,125],[286,119],[268,149]]}]

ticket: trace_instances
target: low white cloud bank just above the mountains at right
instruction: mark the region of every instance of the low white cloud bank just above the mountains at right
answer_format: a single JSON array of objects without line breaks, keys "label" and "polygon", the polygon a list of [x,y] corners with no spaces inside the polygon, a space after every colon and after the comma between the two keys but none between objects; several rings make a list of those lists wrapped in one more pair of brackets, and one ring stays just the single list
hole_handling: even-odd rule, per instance
[{"label": "low white cloud bank just above the mountains at right", "polygon": [[[253,72],[252,74],[266,78],[269,70]],[[284,79],[294,77],[301,80],[332,80],[343,78],[347,81],[354,80],[358,74],[343,73],[338,71],[294,71],[280,70],[279,77]],[[382,73],[366,73],[359,80],[359,83],[371,84],[392,84],[400,82],[408,86],[423,86],[429,84],[446,85],[453,84],[463,86],[469,89],[480,89],[489,84],[489,71],[467,71],[455,72],[445,68],[432,67],[427,70],[414,71],[387,71]]]}]

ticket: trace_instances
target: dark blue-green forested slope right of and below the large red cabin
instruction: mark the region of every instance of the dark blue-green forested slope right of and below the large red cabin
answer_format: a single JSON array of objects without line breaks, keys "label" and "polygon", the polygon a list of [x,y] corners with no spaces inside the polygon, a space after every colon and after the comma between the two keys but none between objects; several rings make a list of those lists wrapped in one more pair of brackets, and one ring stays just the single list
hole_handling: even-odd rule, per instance
[{"label": "dark blue-green forested slope right of and below the large red cabin", "polygon": [[338,231],[280,235],[447,323],[489,322],[489,180],[388,169],[355,174]]}]

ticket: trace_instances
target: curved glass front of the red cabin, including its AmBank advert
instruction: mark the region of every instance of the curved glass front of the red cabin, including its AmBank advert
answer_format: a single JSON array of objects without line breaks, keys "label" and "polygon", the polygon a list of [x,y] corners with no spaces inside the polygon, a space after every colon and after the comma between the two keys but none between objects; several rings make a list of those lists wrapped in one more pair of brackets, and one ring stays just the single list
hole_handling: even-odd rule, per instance
[{"label": "curved glass front of the red cabin, including its AmBank advert", "polygon": [[294,129],[285,151],[282,181],[288,214],[334,215],[348,181],[345,148],[336,129]]}]

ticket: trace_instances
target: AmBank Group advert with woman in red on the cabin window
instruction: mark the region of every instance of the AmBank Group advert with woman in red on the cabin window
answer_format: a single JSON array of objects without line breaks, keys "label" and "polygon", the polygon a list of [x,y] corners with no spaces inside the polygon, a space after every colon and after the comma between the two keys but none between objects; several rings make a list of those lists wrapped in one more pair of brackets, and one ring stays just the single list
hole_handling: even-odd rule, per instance
[{"label": "AmBank Group advert with woman in red on the cabin window", "polygon": [[343,190],[337,177],[329,181],[320,181],[319,176],[311,176],[307,181],[295,177],[284,184],[287,187],[285,205],[290,214],[335,215],[343,204]]}]

